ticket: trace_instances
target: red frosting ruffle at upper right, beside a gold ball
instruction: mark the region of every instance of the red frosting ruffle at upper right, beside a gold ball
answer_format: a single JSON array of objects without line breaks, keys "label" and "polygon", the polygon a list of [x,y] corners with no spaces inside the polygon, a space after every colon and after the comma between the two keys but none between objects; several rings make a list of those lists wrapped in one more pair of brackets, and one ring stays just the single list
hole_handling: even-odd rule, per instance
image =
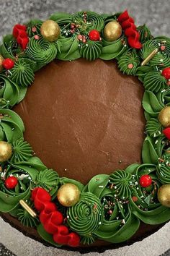
[{"label": "red frosting ruffle at upper right, beside a gold ball", "polygon": [[120,22],[122,29],[125,30],[129,45],[136,49],[142,48],[142,44],[139,41],[140,34],[136,30],[134,20],[129,16],[128,11],[122,12],[117,20]]}]

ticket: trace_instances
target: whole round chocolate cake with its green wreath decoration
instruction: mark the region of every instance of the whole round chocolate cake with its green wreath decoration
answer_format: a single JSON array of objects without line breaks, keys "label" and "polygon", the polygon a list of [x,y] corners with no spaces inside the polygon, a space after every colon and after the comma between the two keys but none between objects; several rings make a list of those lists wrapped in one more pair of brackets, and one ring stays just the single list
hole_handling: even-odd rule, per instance
[{"label": "whole round chocolate cake with its green wreath decoration", "polygon": [[169,221],[169,56],[127,11],[15,25],[0,46],[2,218],[90,251]]}]

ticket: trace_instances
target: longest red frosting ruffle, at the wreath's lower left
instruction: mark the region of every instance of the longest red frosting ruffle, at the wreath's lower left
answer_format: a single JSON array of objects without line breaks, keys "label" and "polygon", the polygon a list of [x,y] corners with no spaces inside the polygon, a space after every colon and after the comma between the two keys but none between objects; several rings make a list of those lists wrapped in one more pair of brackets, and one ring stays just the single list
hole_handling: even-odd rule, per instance
[{"label": "longest red frosting ruffle, at the wreath's lower left", "polygon": [[35,208],[40,211],[40,222],[45,231],[53,234],[53,240],[57,244],[65,244],[77,247],[80,243],[80,236],[75,232],[69,232],[68,227],[63,225],[63,214],[57,210],[54,202],[51,202],[50,194],[41,187],[32,191],[32,198]]}]

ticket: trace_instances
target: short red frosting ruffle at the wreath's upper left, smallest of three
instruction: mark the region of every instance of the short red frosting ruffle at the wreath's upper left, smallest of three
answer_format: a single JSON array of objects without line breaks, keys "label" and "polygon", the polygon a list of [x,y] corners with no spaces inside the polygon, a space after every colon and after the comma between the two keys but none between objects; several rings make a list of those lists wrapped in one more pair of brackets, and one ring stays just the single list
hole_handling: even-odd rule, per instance
[{"label": "short red frosting ruffle at the wreath's upper left, smallest of three", "polygon": [[29,41],[27,35],[27,27],[25,25],[17,24],[13,28],[14,38],[17,39],[17,43],[21,46],[22,50],[26,49]]}]

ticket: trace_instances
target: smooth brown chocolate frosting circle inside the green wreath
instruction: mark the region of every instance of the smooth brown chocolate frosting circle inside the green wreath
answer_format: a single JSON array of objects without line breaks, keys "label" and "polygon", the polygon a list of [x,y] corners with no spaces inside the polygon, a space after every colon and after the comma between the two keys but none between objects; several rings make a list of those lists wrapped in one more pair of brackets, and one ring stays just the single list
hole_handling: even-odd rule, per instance
[{"label": "smooth brown chocolate frosting circle inside the green wreath", "polygon": [[86,184],[96,174],[140,163],[143,85],[115,61],[53,61],[14,107],[24,139],[48,168]]}]

